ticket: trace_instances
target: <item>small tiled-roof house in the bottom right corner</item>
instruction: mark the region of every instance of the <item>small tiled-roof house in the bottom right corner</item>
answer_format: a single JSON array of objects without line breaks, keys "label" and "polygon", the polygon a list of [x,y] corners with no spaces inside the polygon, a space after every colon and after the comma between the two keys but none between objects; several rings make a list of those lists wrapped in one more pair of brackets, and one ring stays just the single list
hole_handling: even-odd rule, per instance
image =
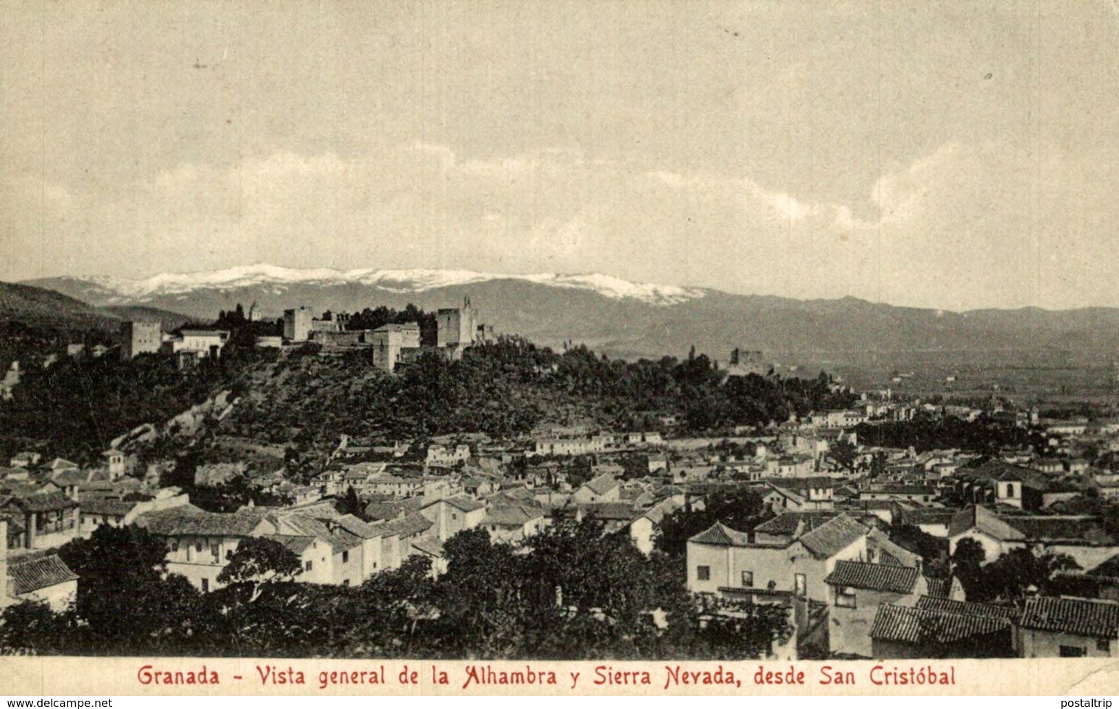
[{"label": "small tiled-roof house in the bottom right corner", "polygon": [[1018,649],[1023,657],[1119,657],[1119,603],[1027,598]]}]

